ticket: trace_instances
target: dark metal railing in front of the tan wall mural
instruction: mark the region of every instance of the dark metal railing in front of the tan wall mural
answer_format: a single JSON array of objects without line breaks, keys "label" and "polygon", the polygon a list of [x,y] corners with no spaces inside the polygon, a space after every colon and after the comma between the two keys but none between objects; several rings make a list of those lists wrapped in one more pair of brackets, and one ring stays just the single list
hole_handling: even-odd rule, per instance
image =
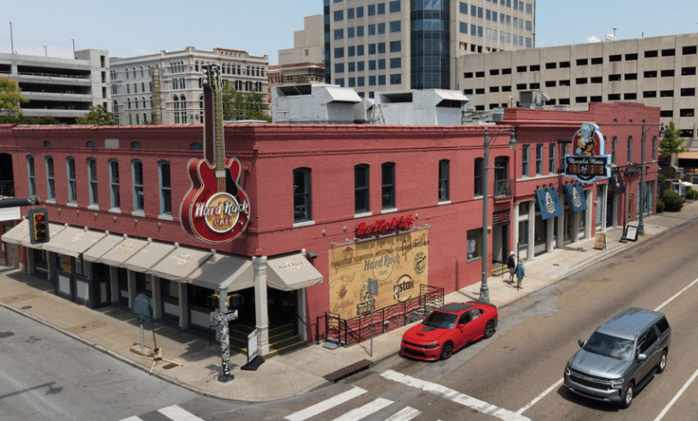
[{"label": "dark metal railing in front of the tan wall mural", "polygon": [[[380,335],[419,320],[443,304],[444,288],[421,285],[419,296],[375,310],[372,317],[369,313],[343,319],[339,314],[326,312],[318,317],[315,325],[316,342],[325,339],[343,346],[356,344],[370,339],[371,320],[373,335]],[[320,331],[323,328],[324,331]]]}]

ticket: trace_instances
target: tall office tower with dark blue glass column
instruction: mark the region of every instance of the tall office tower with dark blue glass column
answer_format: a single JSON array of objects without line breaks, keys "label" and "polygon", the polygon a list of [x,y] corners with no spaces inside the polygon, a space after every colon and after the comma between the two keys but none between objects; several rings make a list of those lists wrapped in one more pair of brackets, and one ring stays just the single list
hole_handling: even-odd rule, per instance
[{"label": "tall office tower with dark blue glass column", "polygon": [[325,0],[324,16],[326,82],[365,98],[458,90],[458,57],[535,43],[532,0]]}]

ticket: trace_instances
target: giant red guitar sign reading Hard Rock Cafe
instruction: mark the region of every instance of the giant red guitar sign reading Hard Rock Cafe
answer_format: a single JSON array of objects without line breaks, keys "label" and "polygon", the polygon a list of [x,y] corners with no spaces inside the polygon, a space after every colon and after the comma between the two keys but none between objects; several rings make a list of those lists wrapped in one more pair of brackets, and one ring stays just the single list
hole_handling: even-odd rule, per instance
[{"label": "giant red guitar sign reading Hard Rock Cafe", "polygon": [[[223,102],[218,68],[205,64],[202,72],[204,114],[213,111],[213,130],[204,125],[204,159],[187,164],[192,188],[184,195],[179,217],[188,234],[208,243],[232,241],[250,221],[250,198],[240,186],[240,161],[226,158]],[[213,109],[211,109],[213,108]],[[211,118],[206,119],[211,123]]]}]

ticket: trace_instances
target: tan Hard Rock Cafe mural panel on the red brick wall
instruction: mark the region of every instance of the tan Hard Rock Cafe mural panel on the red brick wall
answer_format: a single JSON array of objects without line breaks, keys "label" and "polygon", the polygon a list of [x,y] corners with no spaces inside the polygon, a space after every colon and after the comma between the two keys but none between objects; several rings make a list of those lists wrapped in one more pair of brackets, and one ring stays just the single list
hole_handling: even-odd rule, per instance
[{"label": "tan Hard Rock Cafe mural panel on the red brick wall", "polygon": [[[428,285],[428,248],[422,230],[331,249],[330,311],[352,319],[419,296]],[[369,279],[378,280],[378,296],[370,295]]]}]

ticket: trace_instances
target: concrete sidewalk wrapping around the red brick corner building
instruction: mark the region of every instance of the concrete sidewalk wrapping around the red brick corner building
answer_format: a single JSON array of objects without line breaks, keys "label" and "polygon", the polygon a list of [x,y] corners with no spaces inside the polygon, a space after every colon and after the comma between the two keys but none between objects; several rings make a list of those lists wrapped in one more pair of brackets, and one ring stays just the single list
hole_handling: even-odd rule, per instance
[{"label": "concrete sidewalk wrapping around the red brick corner building", "polygon": [[[606,232],[606,250],[594,249],[594,238],[590,238],[545,253],[524,262],[526,278],[524,288],[520,291],[506,283],[508,274],[504,278],[489,278],[489,299],[495,305],[506,305],[562,277],[581,271],[593,262],[613,256],[695,218],[698,218],[698,204],[688,202],[678,213],[664,212],[645,218],[646,235],[638,237],[636,243],[620,243],[618,240],[621,230],[616,228]],[[636,222],[632,225],[637,226]],[[477,300],[479,295],[480,282],[476,282],[448,294],[445,302]],[[374,338],[372,357],[369,355],[369,341],[336,349],[324,348],[320,343],[284,355],[267,357],[257,371],[243,371],[240,367],[247,363],[247,356],[233,354],[231,373],[234,380],[224,383],[217,380],[221,366],[217,344],[209,347],[206,339],[156,326],[157,347],[160,348],[163,360],[153,365],[151,359],[137,355],[140,353],[140,329],[130,312],[115,306],[93,310],[73,304],[55,296],[53,287],[46,281],[16,269],[0,271],[0,305],[47,324],[91,347],[122,359],[127,364],[137,366],[146,373],[152,370],[152,375],[192,391],[230,400],[278,400],[315,389],[328,383],[323,377],[326,374],[362,360],[375,362],[396,354],[403,332],[409,328],[405,326]],[[144,343],[146,347],[152,348],[150,324],[147,323],[144,328]],[[149,348],[144,349],[144,352],[148,351]],[[177,365],[170,364],[171,362]]]}]

